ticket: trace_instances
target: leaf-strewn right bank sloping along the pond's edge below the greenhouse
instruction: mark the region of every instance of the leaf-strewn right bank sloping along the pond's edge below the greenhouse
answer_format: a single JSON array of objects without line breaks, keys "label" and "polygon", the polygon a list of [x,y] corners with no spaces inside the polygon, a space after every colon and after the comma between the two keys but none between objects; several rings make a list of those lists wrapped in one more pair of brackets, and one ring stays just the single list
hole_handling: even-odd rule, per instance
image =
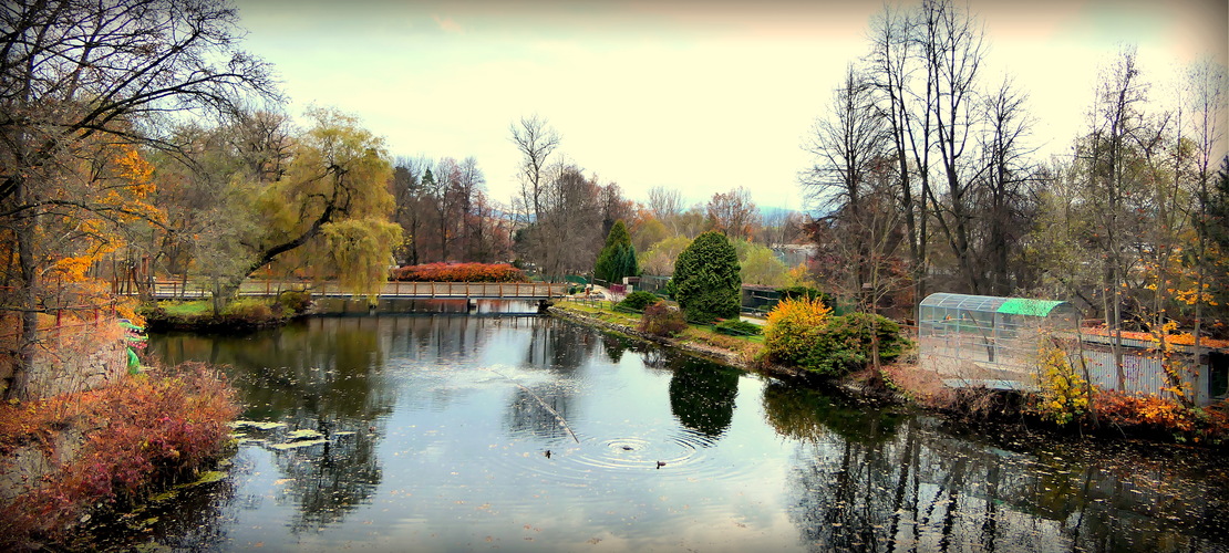
[{"label": "leaf-strewn right bank sloping along the pond's edge below the greenhouse", "polygon": [[[1016,391],[987,388],[950,388],[933,371],[916,361],[898,361],[880,371],[866,369],[841,378],[827,378],[796,367],[764,364],[758,360],[761,345],[746,339],[724,337],[694,327],[676,338],[664,338],[638,331],[633,313],[592,310],[576,304],[557,304],[548,312],[633,339],[671,347],[724,365],[755,371],[789,381],[839,392],[862,404],[902,404],[944,415],[948,420],[977,426],[999,428],[1011,433],[1046,433],[1062,436],[1088,436],[1117,440],[1144,440],[1156,444],[1185,444],[1229,453],[1229,404],[1185,409],[1161,398],[1105,393],[1102,402],[1068,424],[1046,418],[1039,408],[1041,398]],[[714,338],[715,337],[715,338]]]}]

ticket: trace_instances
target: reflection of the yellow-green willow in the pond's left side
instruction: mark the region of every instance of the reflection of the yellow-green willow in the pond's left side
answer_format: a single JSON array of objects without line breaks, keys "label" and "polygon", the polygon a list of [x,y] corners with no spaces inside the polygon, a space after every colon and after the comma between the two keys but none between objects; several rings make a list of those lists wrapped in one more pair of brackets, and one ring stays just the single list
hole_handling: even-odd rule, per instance
[{"label": "reflection of the yellow-green willow in the pond's left side", "polygon": [[[396,386],[381,367],[380,318],[311,318],[243,338],[175,335],[151,340],[167,363],[231,365],[243,417],[311,429],[329,442],[275,452],[300,510],[297,530],[339,520],[380,483],[370,428],[390,414]],[[344,433],[354,433],[344,435]],[[343,434],[343,435],[339,435]]]}]

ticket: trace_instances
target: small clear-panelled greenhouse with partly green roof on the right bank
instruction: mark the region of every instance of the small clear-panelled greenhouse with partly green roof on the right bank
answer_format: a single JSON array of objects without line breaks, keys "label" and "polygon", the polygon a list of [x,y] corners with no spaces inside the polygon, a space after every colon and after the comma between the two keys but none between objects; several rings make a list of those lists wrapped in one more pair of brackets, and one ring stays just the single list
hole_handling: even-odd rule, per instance
[{"label": "small clear-panelled greenhouse with partly green roof on the right bank", "polygon": [[948,376],[1031,383],[1041,334],[1079,320],[1066,301],[932,294],[918,307],[918,354]]}]

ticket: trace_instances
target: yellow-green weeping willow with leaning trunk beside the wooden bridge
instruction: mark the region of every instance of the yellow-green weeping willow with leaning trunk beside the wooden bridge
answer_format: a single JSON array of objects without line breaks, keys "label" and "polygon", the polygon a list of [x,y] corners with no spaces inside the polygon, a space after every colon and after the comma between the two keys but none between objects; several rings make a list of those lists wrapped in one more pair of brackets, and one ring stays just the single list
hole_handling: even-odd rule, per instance
[{"label": "yellow-green weeping willow with leaning trunk beside the wooden bridge", "polygon": [[[336,109],[307,116],[313,125],[295,140],[285,176],[234,186],[234,219],[257,224],[237,232],[229,226],[231,236],[218,235],[221,243],[199,243],[198,249],[225,247],[240,257],[219,257],[225,264],[213,273],[215,308],[274,262],[336,272],[343,286],[360,294],[375,292],[386,278],[401,226],[391,221],[393,173],[383,140]],[[249,211],[242,213],[245,206]]]}]

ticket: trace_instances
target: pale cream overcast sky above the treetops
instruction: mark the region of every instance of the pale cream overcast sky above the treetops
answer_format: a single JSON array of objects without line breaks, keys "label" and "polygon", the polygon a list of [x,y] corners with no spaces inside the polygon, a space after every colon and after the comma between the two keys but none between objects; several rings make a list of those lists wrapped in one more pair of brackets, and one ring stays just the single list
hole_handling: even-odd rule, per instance
[{"label": "pale cream overcast sky above the treetops", "polygon": [[[959,0],[957,0],[959,1]],[[905,5],[913,5],[906,2]],[[878,1],[238,0],[242,48],[274,66],[290,113],[358,116],[395,156],[473,156],[509,202],[509,127],[537,116],[556,155],[626,197],[685,202],[744,187],[761,206],[805,209],[803,150],[846,68],[868,50]],[[1039,155],[1086,122],[1096,75],[1138,48],[1163,95],[1177,68],[1229,58],[1223,0],[971,0],[989,45],[986,84],[1029,95]]]}]

